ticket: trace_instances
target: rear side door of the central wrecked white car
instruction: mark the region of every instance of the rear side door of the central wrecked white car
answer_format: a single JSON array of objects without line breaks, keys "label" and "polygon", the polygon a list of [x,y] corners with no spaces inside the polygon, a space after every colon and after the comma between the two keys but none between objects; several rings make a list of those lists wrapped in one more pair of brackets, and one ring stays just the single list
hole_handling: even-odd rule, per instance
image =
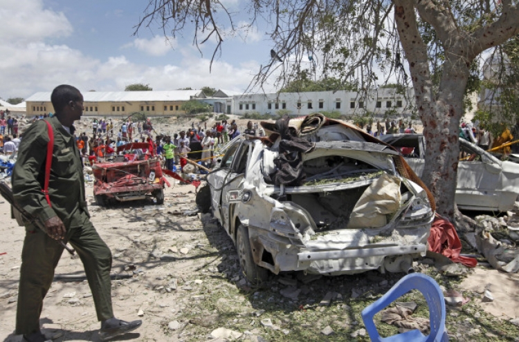
[{"label": "rear side door of the central wrecked white car", "polygon": [[247,140],[244,140],[242,144],[240,144],[239,149],[235,153],[235,158],[233,158],[228,179],[221,193],[221,220],[231,237],[234,236],[231,231],[233,227],[234,207],[237,203],[242,201],[243,183],[251,149],[252,144]]}]

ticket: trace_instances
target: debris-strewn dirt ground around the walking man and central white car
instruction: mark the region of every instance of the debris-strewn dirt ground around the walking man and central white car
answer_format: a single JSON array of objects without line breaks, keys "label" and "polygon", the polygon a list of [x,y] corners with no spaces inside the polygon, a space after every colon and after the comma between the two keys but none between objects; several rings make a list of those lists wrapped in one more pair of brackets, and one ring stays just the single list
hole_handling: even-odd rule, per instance
[{"label": "debris-strewn dirt ground around the walking man and central white car", "polygon": [[[239,271],[233,241],[217,222],[210,215],[183,215],[194,208],[194,187],[169,180],[172,187],[161,206],[142,200],[99,207],[92,183],[87,184],[91,220],[113,254],[114,312],[127,321],[143,320],[140,329],[116,341],[369,341],[361,311],[404,274],[288,272],[252,288]],[[2,198],[0,217],[0,341],[18,342],[21,336],[13,330],[24,229],[10,219]],[[519,341],[519,328],[510,322],[519,311],[519,276],[483,266],[449,276],[430,259],[414,266],[468,299],[461,307],[447,307],[451,341]],[[42,330],[59,342],[99,341],[100,324],[80,260],[64,252],[55,275]],[[493,302],[482,302],[485,289],[494,294]],[[428,317],[417,292],[403,301],[415,301],[415,315]],[[376,325],[383,336],[398,333],[380,318]]]}]

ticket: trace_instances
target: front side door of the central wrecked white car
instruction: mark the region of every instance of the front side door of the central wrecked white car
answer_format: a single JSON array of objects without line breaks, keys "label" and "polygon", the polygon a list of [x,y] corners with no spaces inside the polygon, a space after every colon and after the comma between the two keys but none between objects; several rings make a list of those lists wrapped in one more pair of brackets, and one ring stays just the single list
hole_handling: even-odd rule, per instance
[{"label": "front side door of the central wrecked white car", "polygon": [[[224,189],[224,184],[227,180],[232,177],[231,166],[233,164],[233,160],[235,158],[235,154],[238,151],[238,147],[241,143],[241,140],[237,140],[233,142],[224,153],[224,157],[219,161],[219,166],[217,171],[210,173],[207,177],[208,183],[211,187],[211,205],[213,209],[213,214],[215,218],[217,218],[221,225],[224,225],[224,222],[221,218],[221,194]],[[225,226],[224,226],[225,227]]]}]

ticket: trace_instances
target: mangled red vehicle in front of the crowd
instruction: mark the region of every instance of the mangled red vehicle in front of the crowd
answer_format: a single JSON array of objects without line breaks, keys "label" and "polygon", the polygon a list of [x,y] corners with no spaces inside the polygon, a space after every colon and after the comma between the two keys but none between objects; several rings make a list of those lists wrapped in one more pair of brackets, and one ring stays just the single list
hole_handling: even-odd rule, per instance
[{"label": "mangled red vehicle in front of the crowd", "polygon": [[118,147],[113,162],[92,166],[95,177],[93,194],[98,205],[114,201],[155,198],[157,205],[164,202],[164,184],[161,161],[154,155],[153,145],[147,142]]}]

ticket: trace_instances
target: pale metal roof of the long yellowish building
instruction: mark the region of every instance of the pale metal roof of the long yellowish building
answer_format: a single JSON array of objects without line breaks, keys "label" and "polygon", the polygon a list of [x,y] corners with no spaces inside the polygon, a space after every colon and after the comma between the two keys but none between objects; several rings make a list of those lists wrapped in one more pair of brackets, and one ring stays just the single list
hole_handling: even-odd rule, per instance
[{"label": "pale metal roof of the long yellowish building", "polygon": [[[145,101],[189,101],[192,97],[205,97],[202,91],[87,91],[84,102],[145,102]],[[26,102],[51,101],[51,93],[35,93]]]}]

